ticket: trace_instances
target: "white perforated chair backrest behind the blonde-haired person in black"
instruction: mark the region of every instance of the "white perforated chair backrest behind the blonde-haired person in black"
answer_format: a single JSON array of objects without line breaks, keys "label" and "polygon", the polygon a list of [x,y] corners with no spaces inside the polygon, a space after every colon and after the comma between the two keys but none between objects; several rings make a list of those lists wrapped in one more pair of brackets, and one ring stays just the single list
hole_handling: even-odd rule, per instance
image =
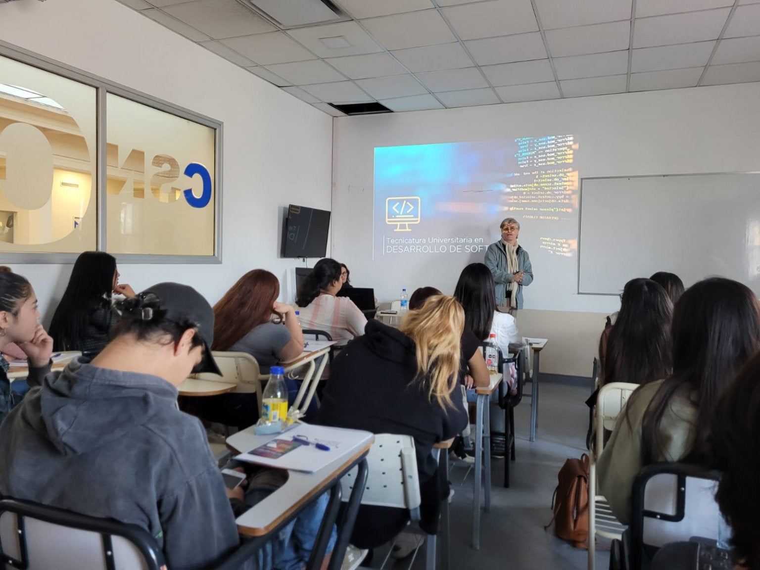
[{"label": "white perforated chair backrest behind the blonde-haired person in black", "polygon": [[[420,476],[411,435],[375,435],[367,464],[369,472],[362,505],[407,508],[413,513],[420,508]],[[354,480],[356,468],[340,480],[346,500],[351,496]]]}]

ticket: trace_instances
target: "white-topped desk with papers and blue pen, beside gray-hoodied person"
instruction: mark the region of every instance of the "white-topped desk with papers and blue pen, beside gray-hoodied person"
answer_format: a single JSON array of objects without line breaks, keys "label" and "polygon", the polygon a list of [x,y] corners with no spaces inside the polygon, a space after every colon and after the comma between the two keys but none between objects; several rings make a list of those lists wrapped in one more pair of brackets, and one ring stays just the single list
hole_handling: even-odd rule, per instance
[{"label": "white-topped desk with papers and blue pen, beside gray-hoodied person", "polygon": [[[321,470],[315,473],[290,470],[287,482],[280,489],[274,491],[266,499],[249,508],[237,518],[238,532],[251,537],[272,536],[277,529],[293,520],[303,508],[306,508],[312,499],[330,491],[330,503],[325,513],[325,519],[322,528],[320,528],[312,559],[306,565],[307,570],[312,570],[312,568],[316,570],[325,557],[325,549],[330,537],[331,529],[325,528],[328,526],[325,525],[325,522],[331,525],[336,520],[337,511],[340,507],[340,478],[358,465],[356,482],[344,516],[337,521],[337,542],[328,567],[328,570],[340,570],[366,485],[366,455],[369,448],[372,447],[372,442],[375,441],[375,436],[372,433],[363,433],[366,433],[366,437],[361,442],[353,446],[346,446],[340,457]],[[282,437],[282,434],[256,435],[253,427],[249,427],[242,432],[230,435],[226,439],[226,444],[234,453],[245,453],[279,437]]]}]

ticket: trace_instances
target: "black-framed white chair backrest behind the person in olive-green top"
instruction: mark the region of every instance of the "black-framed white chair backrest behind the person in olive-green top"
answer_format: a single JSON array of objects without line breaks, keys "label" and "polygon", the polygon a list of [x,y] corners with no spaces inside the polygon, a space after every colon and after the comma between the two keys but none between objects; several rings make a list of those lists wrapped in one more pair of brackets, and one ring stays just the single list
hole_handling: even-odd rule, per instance
[{"label": "black-framed white chair backrest behind the person in olive-green top", "polygon": [[717,540],[720,473],[681,463],[648,465],[635,478],[631,510],[632,568],[645,548],[701,537]]}]

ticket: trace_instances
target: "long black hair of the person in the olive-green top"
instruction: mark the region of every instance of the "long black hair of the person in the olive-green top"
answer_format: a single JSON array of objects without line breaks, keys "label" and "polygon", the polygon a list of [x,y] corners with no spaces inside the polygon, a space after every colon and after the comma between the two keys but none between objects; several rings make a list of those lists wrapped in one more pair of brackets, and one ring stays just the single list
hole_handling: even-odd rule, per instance
[{"label": "long black hair of the person in the olive-green top", "polygon": [[694,444],[679,461],[706,463],[717,401],[758,349],[760,304],[749,287],[711,277],[683,293],[673,313],[673,374],[657,390],[642,420],[644,464],[663,457],[668,435],[661,432],[660,422],[676,392],[688,397],[697,412]]}]

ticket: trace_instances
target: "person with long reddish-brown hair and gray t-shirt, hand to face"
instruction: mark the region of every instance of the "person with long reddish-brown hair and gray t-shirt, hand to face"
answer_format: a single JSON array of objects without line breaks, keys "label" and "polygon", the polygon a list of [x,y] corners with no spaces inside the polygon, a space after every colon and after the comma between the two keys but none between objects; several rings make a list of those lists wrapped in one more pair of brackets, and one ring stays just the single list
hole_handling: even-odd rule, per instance
[{"label": "person with long reddish-brown hair and gray t-shirt, hand to face", "polygon": [[[240,277],[214,306],[211,349],[249,353],[262,374],[280,360],[296,358],[303,351],[301,326],[293,306],[277,302],[279,295],[280,282],[269,271],[254,269]],[[194,400],[199,400],[198,415],[237,429],[256,423],[261,406],[255,393]]]}]

